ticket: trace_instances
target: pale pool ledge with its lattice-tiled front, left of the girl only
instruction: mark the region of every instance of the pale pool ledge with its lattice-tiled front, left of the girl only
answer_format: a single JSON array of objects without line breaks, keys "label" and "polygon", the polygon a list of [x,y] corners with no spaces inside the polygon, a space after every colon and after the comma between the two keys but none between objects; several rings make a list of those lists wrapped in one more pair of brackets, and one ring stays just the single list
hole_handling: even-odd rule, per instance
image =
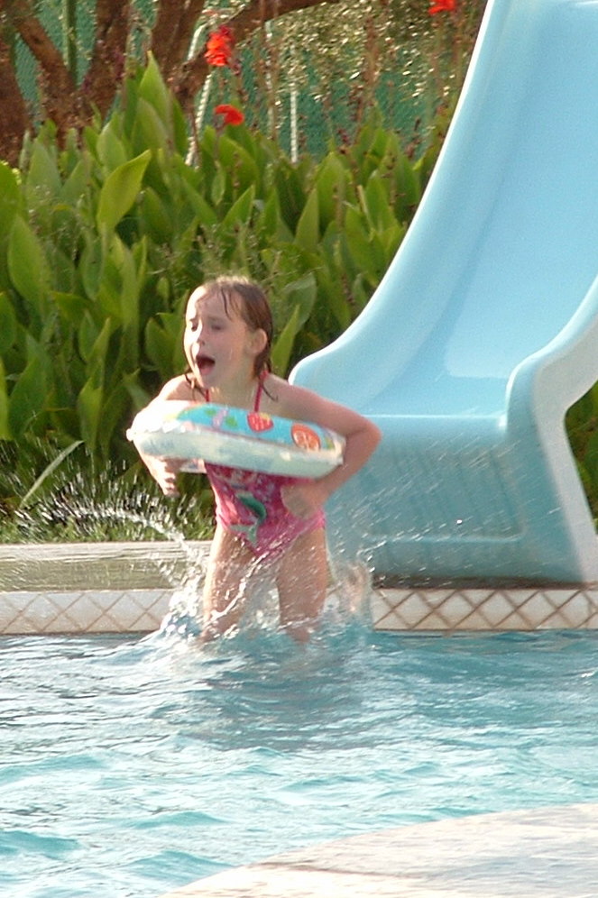
[{"label": "pale pool ledge with its lattice-tiled front, left of the girl only", "polygon": [[0,545],[0,635],[149,633],[210,543]]}]

